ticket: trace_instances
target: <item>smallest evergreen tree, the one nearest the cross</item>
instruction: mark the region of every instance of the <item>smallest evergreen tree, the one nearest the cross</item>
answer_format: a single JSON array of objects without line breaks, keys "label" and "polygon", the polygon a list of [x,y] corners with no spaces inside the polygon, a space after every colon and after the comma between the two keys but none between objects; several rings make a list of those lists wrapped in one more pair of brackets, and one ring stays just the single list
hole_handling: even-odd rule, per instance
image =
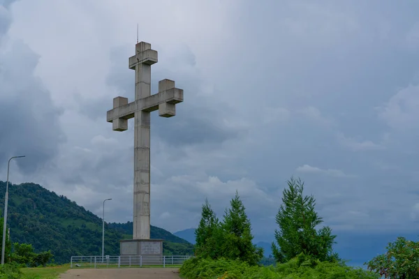
[{"label": "smallest evergreen tree, the one nearest the cross", "polygon": [[219,256],[220,223],[216,214],[211,209],[208,199],[203,204],[202,217],[198,228],[195,230],[196,244],[195,255],[198,257],[210,257],[216,259]]}]

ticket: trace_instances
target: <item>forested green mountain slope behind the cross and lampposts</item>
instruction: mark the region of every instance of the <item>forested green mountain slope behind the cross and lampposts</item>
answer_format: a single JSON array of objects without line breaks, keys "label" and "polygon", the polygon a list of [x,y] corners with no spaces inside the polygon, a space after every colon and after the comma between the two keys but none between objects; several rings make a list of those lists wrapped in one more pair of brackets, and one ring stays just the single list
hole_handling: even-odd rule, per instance
[{"label": "forested green mountain slope behind the cross and lampposts", "polygon": [[[6,183],[0,181],[1,216],[3,193],[6,193]],[[31,243],[36,252],[51,250],[57,263],[69,262],[70,257],[75,255],[101,255],[101,218],[64,195],[57,195],[38,184],[9,183],[7,221],[12,242]],[[129,239],[130,235],[132,222],[105,224],[105,253],[119,255],[119,240]],[[193,253],[191,243],[165,229],[152,226],[151,238],[165,240],[165,255]]]}]

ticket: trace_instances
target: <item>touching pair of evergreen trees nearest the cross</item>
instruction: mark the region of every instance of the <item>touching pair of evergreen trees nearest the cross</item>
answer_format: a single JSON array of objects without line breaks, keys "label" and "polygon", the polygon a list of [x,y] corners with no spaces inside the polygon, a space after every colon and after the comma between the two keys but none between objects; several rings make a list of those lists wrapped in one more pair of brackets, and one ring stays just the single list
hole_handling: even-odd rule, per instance
[{"label": "touching pair of evergreen trees nearest the cross", "polygon": [[240,259],[249,264],[258,264],[263,257],[263,249],[252,243],[251,224],[237,192],[222,222],[205,199],[202,218],[195,233],[195,253],[198,257]]}]

